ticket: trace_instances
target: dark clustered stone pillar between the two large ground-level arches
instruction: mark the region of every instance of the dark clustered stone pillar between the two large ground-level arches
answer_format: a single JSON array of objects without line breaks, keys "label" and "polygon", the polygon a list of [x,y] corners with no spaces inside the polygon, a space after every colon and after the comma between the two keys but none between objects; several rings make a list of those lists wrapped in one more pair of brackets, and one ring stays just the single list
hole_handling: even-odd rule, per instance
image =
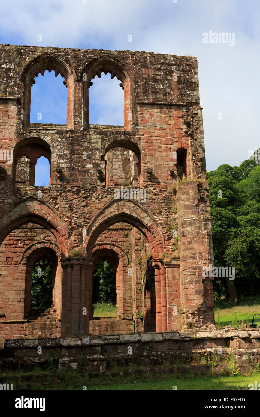
[{"label": "dark clustered stone pillar between the two large ground-level arches", "polygon": [[71,257],[62,259],[61,265],[61,336],[87,336],[90,299],[88,276],[91,262],[86,258]]}]

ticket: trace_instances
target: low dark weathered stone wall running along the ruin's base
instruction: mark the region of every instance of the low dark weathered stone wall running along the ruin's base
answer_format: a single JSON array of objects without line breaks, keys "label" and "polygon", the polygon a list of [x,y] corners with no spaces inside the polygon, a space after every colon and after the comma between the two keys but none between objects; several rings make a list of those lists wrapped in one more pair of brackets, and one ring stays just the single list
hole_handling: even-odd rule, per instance
[{"label": "low dark weathered stone wall running along the ruin's base", "polygon": [[260,364],[259,329],[90,335],[81,339],[7,339],[4,346],[0,349],[0,364],[10,369],[19,364],[45,366],[50,358],[59,369],[76,369],[80,364],[90,373],[109,372],[111,363],[172,366],[196,363],[202,357],[220,363],[227,355],[244,374],[249,366]]}]

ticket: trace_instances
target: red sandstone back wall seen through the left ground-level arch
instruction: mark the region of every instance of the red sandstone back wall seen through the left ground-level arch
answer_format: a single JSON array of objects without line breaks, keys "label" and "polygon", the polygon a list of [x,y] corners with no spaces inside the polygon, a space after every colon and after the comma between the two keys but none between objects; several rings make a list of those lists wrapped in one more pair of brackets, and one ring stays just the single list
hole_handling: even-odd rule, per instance
[{"label": "red sandstone back wall seen through the left ground-level arch", "polygon": [[[53,308],[48,309],[42,317],[30,317],[30,279],[26,275],[26,257],[30,249],[42,244],[57,245],[55,237],[42,226],[28,223],[13,230],[0,246],[0,337],[10,338],[32,334],[53,336],[59,334],[61,323],[61,264],[58,263],[53,287]],[[38,247],[37,246],[37,247]],[[27,282],[26,282],[27,281]],[[26,287],[28,285],[28,287]]]}]

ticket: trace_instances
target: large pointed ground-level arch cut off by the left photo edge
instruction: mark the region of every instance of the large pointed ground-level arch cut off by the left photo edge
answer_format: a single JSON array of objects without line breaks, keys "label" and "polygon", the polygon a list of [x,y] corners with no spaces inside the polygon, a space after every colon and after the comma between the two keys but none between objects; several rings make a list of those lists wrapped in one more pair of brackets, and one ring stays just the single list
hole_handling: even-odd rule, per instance
[{"label": "large pointed ground-level arch cut off by the left photo edge", "polygon": [[[50,216],[52,217],[50,219]],[[62,234],[62,236],[61,236]],[[0,222],[0,259],[1,259],[1,299],[5,311],[5,320],[18,321],[14,324],[26,334],[27,318],[31,310],[32,271],[35,265],[49,263],[51,283],[45,288],[50,292],[47,300],[39,297],[38,301],[44,310],[49,310],[50,326],[35,320],[30,334],[51,336],[60,334],[61,319],[61,256],[66,254],[66,224],[51,210],[49,206],[34,198],[26,198],[12,208]],[[64,255],[63,255],[64,256]],[[46,265],[46,266],[47,266]],[[51,268],[50,268],[51,266]],[[38,270],[37,270],[38,272]],[[45,272],[45,271],[44,271]],[[45,274],[42,274],[45,278]],[[39,284],[39,282],[38,282]],[[50,294],[51,293],[51,294]],[[48,307],[50,306],[50,309]],[[28,325],[29,325],[28,324]],[[6,326],[3,323],[3,332]],[[22,334],[22,333],[21,333]]]}]

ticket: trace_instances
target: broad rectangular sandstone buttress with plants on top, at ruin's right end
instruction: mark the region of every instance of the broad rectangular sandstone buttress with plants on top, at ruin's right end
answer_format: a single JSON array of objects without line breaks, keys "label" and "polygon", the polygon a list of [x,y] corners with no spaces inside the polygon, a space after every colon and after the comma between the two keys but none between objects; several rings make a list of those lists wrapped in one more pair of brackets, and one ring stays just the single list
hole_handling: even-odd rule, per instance
[{"label": "broad rectangular sandstone buttress with plants on top, at ruin's right end", "polygon": [[203,266],[213,263],[212,219],[207,181],[181,182],[177,187],[180,237],[180,295],[183,329],[214,324],[212,282]]}]

